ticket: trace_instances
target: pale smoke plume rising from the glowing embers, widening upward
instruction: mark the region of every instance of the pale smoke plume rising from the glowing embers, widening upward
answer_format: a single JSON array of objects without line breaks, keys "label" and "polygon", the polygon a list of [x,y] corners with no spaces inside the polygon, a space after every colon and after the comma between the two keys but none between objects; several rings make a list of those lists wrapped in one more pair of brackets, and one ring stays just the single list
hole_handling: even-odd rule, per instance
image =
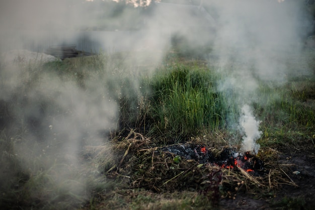
[{"label": "pale smoke plume rising from the glowing embers, widening upward", "polygon": [[[281,3],[280,3],[281,2]],[[244,133],[242,150],[258,152],[260,121],[253,117],[253,102],[261,103],[260,85],[276,87],[292,76],[308,74],[290,60],[300,56],[301,40],[309,20],[302,13],[303,1],[207,1],[216,16],[217,30],[210,64],[223,76],[219,91],[241,117],[231,121]],[[214,59],[213,59],[214,58]],[[245,105],[244,105],[245,104]],[[239,126],[234,126],[237,123]]]}]

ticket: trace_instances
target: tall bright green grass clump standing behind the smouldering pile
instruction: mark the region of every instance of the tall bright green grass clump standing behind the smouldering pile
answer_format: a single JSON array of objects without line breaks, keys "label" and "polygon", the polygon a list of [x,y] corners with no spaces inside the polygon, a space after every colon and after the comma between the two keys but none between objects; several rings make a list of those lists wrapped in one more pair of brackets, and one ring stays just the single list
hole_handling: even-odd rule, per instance
[{"label": "tall bright green grass clump standing behind the smouldering pile", "polygon": [[146,80],[151,133],[185,141],[203,130],[227,126],[229,113],[225,94],[217,91],[219,75],[198,66],[174,66]]}]

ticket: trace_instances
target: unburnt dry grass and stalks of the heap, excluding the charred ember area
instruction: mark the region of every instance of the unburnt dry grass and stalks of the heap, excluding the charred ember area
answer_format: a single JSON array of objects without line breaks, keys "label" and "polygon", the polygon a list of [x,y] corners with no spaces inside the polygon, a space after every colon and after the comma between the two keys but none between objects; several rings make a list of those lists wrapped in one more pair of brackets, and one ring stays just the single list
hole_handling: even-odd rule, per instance
[{"label": "unburnt dry grass and stalks of the heap, excluding the charred ember area", "polygon": [[[92,148],[89,148],[90,153]],[[279,164],[278,152],[261,150],[257,157],[264,161],[265,172],[254,176],[241,167],[222,168],[212,163],[201,164],[162,150],[149,138],[133,130],[109,147],[95,147],[94,159],[108,177],[123,177],[130,188],[144,188],[155,192],[181,190],[207,194],[215,191],[220,197],[233,198],[239,192],[262,196],[280,188],[283,184],[296,184],[288,176],[291,165]],[[220,148],[209,148],[219,154]],[[115,156],[108,154],[115,153]],[[213,199],[211,192],[209,198]],[[217,195],[216,195],[217,196]]]}]

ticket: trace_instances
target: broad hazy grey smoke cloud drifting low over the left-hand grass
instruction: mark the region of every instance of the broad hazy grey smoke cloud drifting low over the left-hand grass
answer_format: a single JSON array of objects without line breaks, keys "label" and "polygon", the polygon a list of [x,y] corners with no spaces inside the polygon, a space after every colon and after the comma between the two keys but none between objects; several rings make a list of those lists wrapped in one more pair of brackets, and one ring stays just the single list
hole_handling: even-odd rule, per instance
[{"label": "broad hazy grey smoke cloud drifting low over the left-hand grass", "polygon": [[[86,78],[82,88],[75,75],[62,77],[35,61],[6,63],[0,70],[0,105],[3,109],[7,104],[12,119],[5,131],[14,142],[13,151],[5,152],[15,154],[21,170],[32,177],[29,195],[41,194],[43,203],[65,201],[65,194],[88,199],[89,174],[96,169],[85,165],[82,152],[87,145],[107,142],[106,134],[117,123],[117,104],[107,97],[104,75]],[[83,172],[89,167],[91,171]],[[2,179],[8,178],[2,174]]]}]

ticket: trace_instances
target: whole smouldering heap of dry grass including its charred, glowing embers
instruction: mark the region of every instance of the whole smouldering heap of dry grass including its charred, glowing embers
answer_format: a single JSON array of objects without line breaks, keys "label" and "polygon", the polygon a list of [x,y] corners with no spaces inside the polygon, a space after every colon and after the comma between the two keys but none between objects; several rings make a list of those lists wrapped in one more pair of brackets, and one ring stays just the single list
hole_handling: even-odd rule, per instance
[{"label": "whole smouldering heap of dry grass including its charred, glowing embers", "polygon": [[[112,150],[118,154],[115,158],[103,158],[102,154],[108,152],[103,153],[101,147],[94,152],[99,170],[109,178],[122,179],[129,189],[155,193],[194,191],[207,196],[212,203],[220,198],[235,198],[241,192],[262,197],[270,196],[283,184],[296,186],[289,176],[290,165],[277,162],[276,150],[260,150],[256,156],[245,153],[232,163],[224,160],[229,157],[227,151],[234,154],[236,149],[208,147],[197,140],[157,146],[153,140],[131,130],[125,138],[113,140]],[[240,157],[248,157],[257,164],[260,161],[260,165],[249,169],[237,164]]]}]

